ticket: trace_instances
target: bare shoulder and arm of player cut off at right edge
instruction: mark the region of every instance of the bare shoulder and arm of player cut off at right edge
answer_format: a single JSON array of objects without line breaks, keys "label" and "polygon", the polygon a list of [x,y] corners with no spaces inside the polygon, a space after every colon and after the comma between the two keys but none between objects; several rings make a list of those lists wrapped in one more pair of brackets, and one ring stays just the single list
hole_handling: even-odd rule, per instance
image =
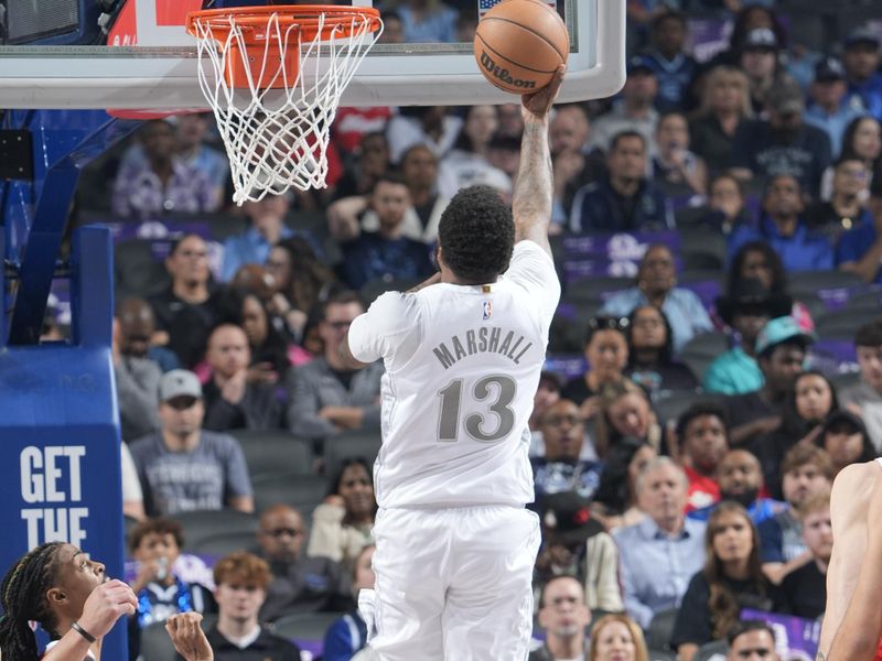
[{"label": "bare shoulder and arm of player cut off at right edge", "polygon": [[882,661],[881,462],[847,466],[833,483],[833,551],[819,661]]}]

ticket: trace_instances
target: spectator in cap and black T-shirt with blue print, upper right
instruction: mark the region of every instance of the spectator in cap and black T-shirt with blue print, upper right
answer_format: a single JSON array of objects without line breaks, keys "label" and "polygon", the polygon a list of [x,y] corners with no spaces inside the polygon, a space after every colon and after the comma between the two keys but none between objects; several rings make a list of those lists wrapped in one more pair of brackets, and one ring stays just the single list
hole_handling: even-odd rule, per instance
[{"label": "spectator in cap and black T-shirt with blue print, upper right", "polygon": [[760,181],[787,175],[817,198],[821,175],[832,161],[830,139],[804,121],[805,101],[795,83],[776,83],[765,96],[765,108],[767,121],[747,122],[735,137],[733,173]]}]

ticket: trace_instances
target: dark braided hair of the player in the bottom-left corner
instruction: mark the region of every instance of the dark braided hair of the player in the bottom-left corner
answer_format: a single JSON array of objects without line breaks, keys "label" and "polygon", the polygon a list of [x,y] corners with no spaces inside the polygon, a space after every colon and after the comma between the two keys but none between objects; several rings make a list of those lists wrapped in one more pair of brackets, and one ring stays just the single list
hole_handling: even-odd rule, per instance
[{"label": "dark braided hair of the player in the bottom-left corner", "polygon": [[0,652],[4,659],[37,661],[36,637],[28,622],[36,621],[54,633],[55,619],[46,602],[57,572],[61,542],[50,542],[25,553],[3,577],[0,587]]}]

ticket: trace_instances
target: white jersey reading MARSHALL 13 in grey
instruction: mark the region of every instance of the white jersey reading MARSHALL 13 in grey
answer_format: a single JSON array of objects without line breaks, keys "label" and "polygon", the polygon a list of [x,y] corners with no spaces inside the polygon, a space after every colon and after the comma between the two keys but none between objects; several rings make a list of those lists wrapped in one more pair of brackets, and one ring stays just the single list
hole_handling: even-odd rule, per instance
[{"label": "white jersey reading MARSHALL 13 in grey", "polygon": [[386,293],[353,322],[353,356],[386,365],[380,507],[533,501],[527,423],[559,299],[551,257],[519,241],[493,284]]}]

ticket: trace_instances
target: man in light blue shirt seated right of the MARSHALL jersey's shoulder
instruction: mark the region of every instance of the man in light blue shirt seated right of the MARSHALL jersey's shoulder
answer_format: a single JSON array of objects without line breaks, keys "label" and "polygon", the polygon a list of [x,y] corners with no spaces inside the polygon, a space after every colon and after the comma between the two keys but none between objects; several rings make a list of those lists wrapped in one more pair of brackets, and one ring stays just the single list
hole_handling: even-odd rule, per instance
[{"label": "man in light blue shirt seated right of the MARSHALL jersey's shoulder", "polygon": [[701,300],[695,292],[677,286],[677,268],[667,246],[656,243],[643,253],[636,286],[610,296],[601,312],[626,316],[638,305],[655,305],[665,313],[674,332],[674,353],[678,354],[696,335],[713,329]]}]

